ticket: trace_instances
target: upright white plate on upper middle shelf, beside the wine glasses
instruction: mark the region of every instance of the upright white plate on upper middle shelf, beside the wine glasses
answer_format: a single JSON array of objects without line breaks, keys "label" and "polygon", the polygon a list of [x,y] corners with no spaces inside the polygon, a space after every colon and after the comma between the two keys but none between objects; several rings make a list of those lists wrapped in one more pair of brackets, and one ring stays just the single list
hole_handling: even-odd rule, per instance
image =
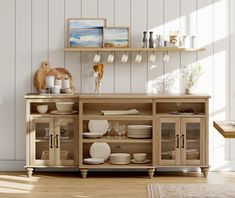
[{"label": "upright white plate on upper middle shelf, beside the wine glasses", "polygon": [[90,132],[102,133],[104,135],[109,128],[107,120],[89,120],[88,129]]}]

